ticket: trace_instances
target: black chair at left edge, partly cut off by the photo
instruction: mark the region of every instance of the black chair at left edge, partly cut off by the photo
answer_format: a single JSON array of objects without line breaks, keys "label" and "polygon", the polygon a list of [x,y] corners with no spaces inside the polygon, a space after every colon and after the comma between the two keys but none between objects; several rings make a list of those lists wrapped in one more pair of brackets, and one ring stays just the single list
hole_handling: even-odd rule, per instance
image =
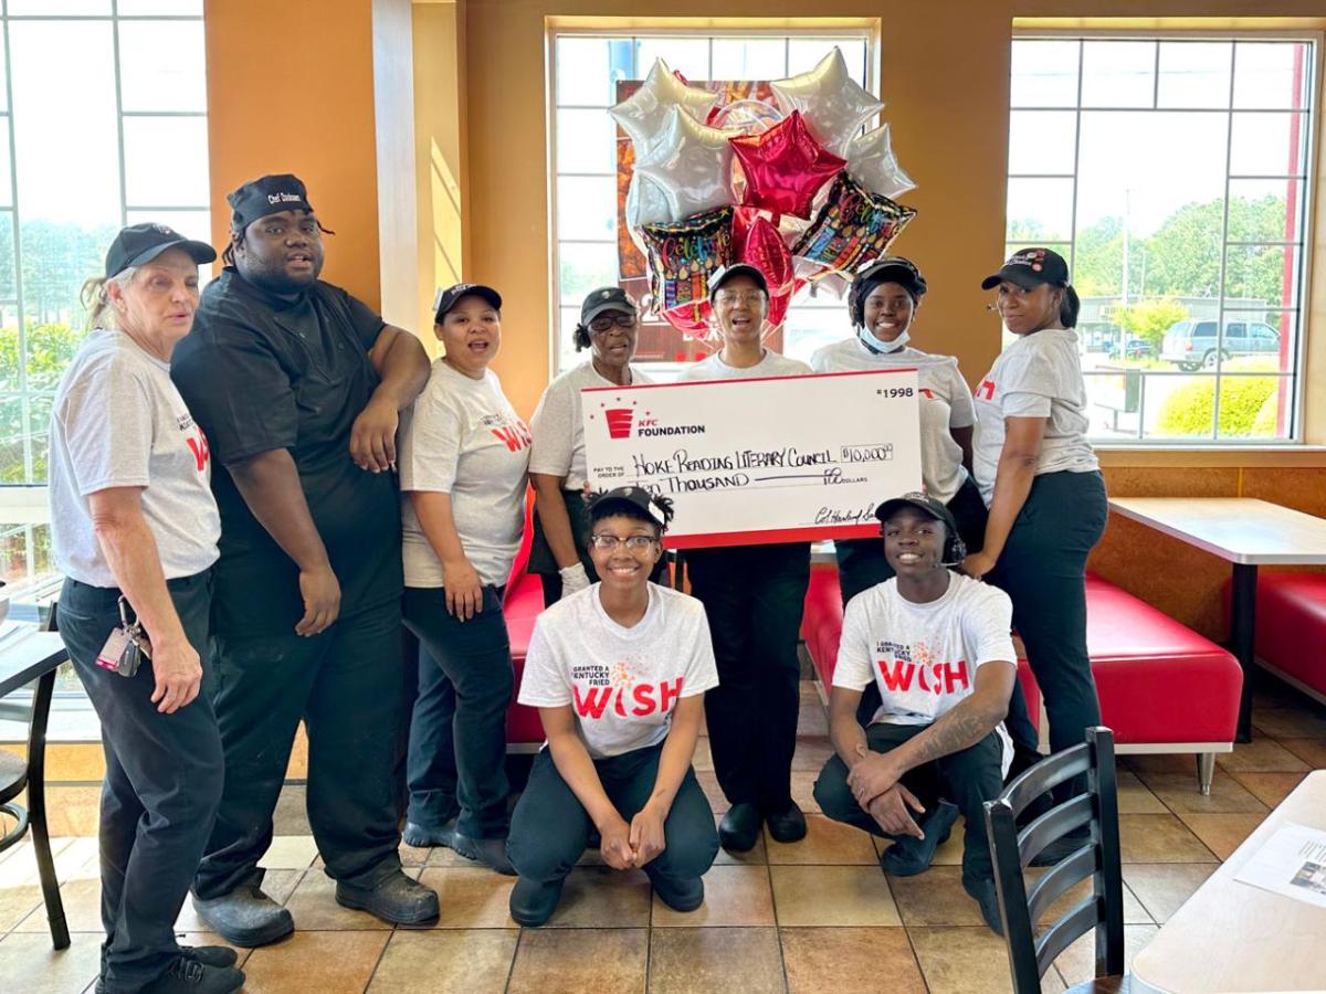
[{"label": "black chair at left edge, partly cut off by the photo", "polygon": [[[46,631],[56,630],[56,610],[52,606]],[[56,861],[50,855],[50,834],[46,831],[46,718],[50,716],[50,700],[56,692],[56,671],[37,680],[32,696],[32,709],[28,713],[28,758],[0,750],[0,811],[15,819],[16,824],[0,836],[0,852],[19,844],[28,828],[32,828],[32,844],[37,856],[37,876],[41,879],[41,896],[46,905],[46,921],[50,925],[50,941],[56,949],[69,948],[69,926],[65,924],[65,905],[60,899],[60,881],[56,880]],[[16,710],[5,706],[5,716]],[[28,807],[24,808],[16,798],[28,790]]]}]

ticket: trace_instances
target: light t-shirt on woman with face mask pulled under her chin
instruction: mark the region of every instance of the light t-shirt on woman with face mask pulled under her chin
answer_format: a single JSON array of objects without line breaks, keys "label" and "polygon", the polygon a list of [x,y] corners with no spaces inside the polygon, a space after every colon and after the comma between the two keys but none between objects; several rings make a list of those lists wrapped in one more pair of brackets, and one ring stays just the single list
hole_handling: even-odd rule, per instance
[{"label": "light t-shirt on woman with face mask pulled under her chin", "polygon": [[815,372],[855,370],[896,370],[916,367],[920,386],[920,468],[926,493],[941,504],[967,481],[963,447],[953,440],[952,428],[976,424],[972,392],[957,371],[951,355],[931,355],[904,346],[896,353],[875,354],[853,335],[815,350],[810,368]]}]

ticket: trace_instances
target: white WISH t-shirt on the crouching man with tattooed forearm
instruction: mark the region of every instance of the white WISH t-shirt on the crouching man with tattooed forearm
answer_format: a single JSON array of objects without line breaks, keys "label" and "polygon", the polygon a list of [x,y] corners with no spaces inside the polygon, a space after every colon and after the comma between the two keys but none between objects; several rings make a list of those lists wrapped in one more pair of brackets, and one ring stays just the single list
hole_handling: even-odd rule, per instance
[{"label": "white WISH t-shirt on the crouching man with tattooed forearm", "polygon": [[[874,680],[883,704],[871,724],[930,725],[971,696],[987,663],[1016,665],[1008,594],[969,577],[949,574],[939,600],[914,604],[890,579],[847,603],[833,685],[865,690]],[[1000,724],[1004,773],[1013,741]]]}]

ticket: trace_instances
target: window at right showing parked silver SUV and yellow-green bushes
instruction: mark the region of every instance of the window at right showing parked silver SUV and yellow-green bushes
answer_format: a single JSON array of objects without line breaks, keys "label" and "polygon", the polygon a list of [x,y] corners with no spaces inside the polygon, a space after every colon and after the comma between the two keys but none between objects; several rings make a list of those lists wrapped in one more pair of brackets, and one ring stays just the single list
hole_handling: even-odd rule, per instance
[{"label": "window at right showing parked silver SUV and yellow-green bushes", "polygon": [[1317,45],[1013,41],[1008,248],[1073,269],[1098,441],[1299,437]]}]

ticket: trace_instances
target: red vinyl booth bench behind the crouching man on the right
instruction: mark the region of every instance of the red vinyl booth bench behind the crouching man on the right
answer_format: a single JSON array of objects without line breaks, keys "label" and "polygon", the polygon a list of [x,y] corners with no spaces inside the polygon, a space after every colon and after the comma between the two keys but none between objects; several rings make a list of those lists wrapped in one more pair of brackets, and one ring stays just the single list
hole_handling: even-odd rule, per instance
[{"label": "red vinyl booth bench behind the crouching man on the right", "polygon": [[[1242,672],[1231,653],[1098,577],[1087,578],[1086,596],[1087,652],[1102,720],[1120,745],[1233,742]],[[1326,644],[1326,607],[1319,610]],[[838,571],[831,565],[812,569],[805,632],[827,692],[842,635]],[[1037,721],[1041,694],[1026,660],[1018,660],[1018,681]]]}]

